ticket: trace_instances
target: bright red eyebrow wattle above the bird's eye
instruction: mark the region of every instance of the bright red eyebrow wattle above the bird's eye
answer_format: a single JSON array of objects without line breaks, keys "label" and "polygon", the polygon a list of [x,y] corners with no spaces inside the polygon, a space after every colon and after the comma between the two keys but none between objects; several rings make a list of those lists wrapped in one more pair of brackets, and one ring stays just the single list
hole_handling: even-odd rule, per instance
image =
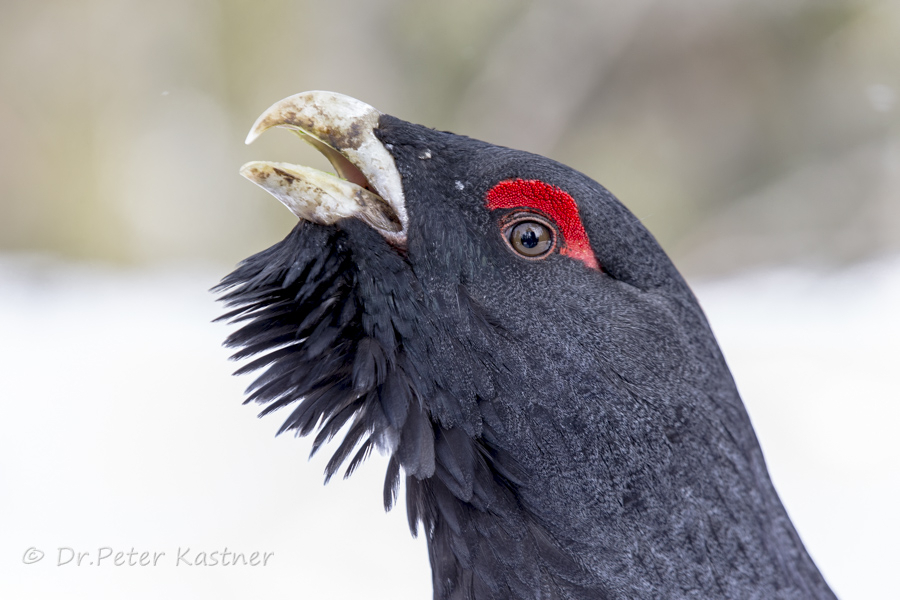
[{"label": "bright red eyebrow wattle above the bird's eye", "polygon": [[600,263],[581,224],[575,199],[558,187],[537,179],[508,179],[492,187],[484,202],[490,210],[530,208],[544,213],[553,219],[562,233],[559,253],[600,270]]}]

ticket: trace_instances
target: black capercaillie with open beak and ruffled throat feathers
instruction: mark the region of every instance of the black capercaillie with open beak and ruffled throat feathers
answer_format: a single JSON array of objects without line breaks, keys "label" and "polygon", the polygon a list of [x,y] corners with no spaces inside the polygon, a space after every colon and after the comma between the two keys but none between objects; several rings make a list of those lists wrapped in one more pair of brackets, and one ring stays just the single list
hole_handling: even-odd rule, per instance
[{"label": "black capercaillie with open beak and ruffled throat feathers", "polygon": [[[273,104],[335,173],[241,174],[298,221],[216,289],[246,402],[373,449],[435,600],[835,598],[696,297],[612,193],[334,92]],[[401,483],[405,499],[401,498]]]}]

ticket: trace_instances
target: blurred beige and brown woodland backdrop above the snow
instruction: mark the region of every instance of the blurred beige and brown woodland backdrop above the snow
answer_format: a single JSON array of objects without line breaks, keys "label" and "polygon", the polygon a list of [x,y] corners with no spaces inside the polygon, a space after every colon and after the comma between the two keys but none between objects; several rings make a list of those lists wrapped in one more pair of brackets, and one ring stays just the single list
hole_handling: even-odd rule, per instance
[{"label": "blurred beige and brown woodland backdrop above the snow", "polygon": [[[0,250],[231,264],[291,225],[240,179],[322,161],[306,89],[550,156],[688,274],[900,247],[896,0],[3,0]],[[307,152],[308,154],[304,154]]]}]

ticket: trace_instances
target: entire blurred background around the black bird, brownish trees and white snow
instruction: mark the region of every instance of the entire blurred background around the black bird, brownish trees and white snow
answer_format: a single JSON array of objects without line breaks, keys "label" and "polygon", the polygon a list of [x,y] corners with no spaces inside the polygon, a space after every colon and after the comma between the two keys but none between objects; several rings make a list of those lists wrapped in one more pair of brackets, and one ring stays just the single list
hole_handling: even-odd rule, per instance
[{"label": "entire blurred background around the black bird, brownish trees and white snow", "polygon": [[[286,132],[243,144],[308,89],[612,190],[694,285],[835,590],[896,597],[897,0],[0,0],[0,14],[3,597],[428,597],[423,547],[366,485],[381,468],[323,490],[305,442],[272,442],[278,418],[239,406],[249,381],[229,378],[227,329],[208,324],[205,290],[295,222],[238,167],[327,168]],[[59,546],[190,543],[281,554],[251,575],[48,563]]]}]

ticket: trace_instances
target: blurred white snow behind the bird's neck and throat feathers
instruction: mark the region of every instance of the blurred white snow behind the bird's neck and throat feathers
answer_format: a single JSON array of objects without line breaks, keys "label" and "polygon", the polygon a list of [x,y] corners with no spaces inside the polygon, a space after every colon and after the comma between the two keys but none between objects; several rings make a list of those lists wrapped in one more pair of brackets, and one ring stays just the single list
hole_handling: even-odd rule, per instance
[{"label": "blurred white snow behind the bird's neck and throat feathers", "polygon": [[[424,542],[381,508],[384,459],[323,487],[327,451],[307,464],[308,440],[241,406],[206,291],[225,272],[0,257],[0,597],[430,597]],[[891,597],[900,259],[694,289],[826,578]]]}]

